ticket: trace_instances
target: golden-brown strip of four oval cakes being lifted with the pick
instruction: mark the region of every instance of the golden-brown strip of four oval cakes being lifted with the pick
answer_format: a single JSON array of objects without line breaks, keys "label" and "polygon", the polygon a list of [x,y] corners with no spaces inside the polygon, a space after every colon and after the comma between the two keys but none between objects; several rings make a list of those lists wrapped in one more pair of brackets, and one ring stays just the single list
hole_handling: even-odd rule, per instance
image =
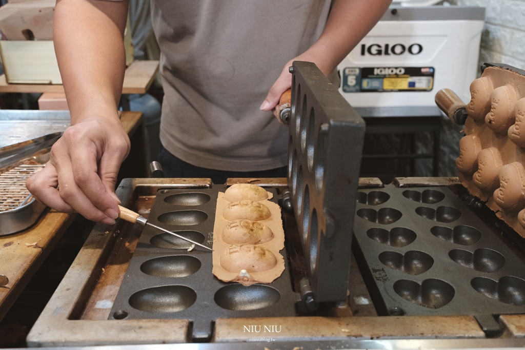
[{"label": "golden-brown strip of four oval cakes being lifted with the pick", "polygon": [[279,205],[253,184],[235,184],[219,192],[213,229],[213,274],[243,285],[270,283],[285,270]]}]

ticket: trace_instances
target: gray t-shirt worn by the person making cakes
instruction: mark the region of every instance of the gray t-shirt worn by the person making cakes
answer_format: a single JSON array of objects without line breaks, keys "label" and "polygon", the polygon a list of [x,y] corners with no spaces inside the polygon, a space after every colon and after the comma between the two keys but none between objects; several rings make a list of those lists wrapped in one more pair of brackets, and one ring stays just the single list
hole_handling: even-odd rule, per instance
[{"label": "gray t-shirt worn by the person making cakes", "polygon": [[227,171],[287,164],[287,134],[259,106],[285,63],[320,36],[330,0],[152,0],[161,49],[161,142]]}]

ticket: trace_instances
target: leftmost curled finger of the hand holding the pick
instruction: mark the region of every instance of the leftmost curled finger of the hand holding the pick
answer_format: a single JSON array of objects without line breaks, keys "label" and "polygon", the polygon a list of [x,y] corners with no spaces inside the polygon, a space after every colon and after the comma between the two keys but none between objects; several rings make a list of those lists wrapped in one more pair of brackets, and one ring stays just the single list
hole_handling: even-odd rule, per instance
[{"label": "leftmost curled finger of the hand holding the pick", "polygon": [[26,181],[27,189],[36,200],[58,211],[72,213],[75,210],[60,197],[57,186],[57,169],[51,163]]}]

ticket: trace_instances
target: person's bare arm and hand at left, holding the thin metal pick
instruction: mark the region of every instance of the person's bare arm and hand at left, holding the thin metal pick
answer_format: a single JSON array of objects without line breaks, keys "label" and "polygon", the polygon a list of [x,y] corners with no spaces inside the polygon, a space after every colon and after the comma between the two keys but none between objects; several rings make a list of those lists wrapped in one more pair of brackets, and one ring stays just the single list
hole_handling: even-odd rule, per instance
[{"label": "person's bare arm and hand at left, holding the thin metal pick", "polygon": [[128,0],[57,1],[53,40],[71,126],[26,183],[51,208],[106,224],[118,216],[115,184],[130,148],[117,112],[127,16]]}]

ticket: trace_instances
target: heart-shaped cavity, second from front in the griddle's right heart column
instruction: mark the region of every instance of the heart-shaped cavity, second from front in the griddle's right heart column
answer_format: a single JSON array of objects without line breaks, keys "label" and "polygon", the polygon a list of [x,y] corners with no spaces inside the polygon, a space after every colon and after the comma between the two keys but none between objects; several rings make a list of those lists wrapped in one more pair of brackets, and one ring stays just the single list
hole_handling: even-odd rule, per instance
[{"label": "heart-shaped cavity, second from front in the griddle's right heart column", "polygon": [[487,248],[476,249],[474,253],[453,249],[448,252],[448,256],[461,266],[481,272],[496,272],[505,265],[505,257]]}]

